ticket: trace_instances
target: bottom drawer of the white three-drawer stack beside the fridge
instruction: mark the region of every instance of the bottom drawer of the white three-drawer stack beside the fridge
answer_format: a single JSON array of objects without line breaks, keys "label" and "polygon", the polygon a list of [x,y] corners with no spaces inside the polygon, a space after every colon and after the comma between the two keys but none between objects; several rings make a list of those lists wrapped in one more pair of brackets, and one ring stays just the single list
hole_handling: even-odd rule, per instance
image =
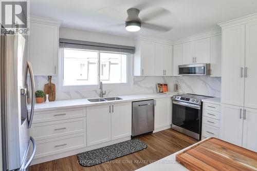
[{"label": "bottom drawer of the white three-drawer stack beside the fridge", "polygon": [[34,159],[71,151],[86,146],[86,133],[36,141]]}]

